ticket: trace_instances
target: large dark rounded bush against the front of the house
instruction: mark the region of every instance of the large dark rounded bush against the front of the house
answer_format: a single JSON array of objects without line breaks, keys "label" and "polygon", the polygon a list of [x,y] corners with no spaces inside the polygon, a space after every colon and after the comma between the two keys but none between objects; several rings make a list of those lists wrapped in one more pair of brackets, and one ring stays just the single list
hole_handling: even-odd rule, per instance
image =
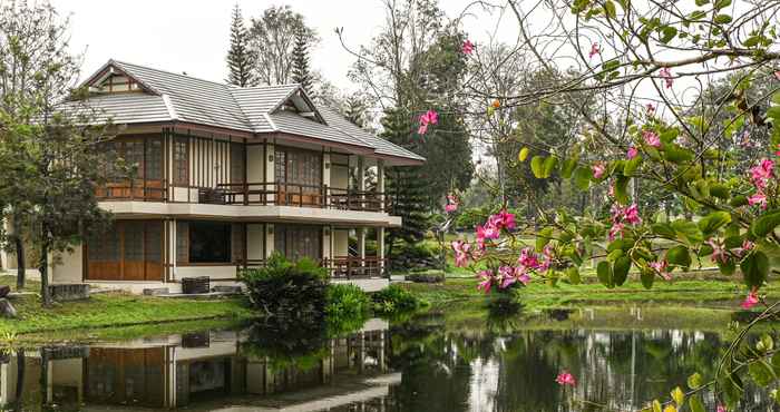
[{"label": "large dark rounded bush against the front of the house", "polygon": [[322,320],[325,311],[328,269],[302,258],[291,263],[274,253],[262,268],[243,271],[252,306],[265,317]]}]

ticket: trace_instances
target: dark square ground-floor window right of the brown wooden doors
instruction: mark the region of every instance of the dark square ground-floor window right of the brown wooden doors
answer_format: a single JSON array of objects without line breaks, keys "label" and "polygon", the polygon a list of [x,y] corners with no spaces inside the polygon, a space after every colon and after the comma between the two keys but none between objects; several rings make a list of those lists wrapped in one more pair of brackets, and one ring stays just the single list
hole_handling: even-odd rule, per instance
[{"label": "dark square ground-floor window right of the brown wooden doors", "polygon": [[231,224],[189,222],[189,262],[230,263]]}]

